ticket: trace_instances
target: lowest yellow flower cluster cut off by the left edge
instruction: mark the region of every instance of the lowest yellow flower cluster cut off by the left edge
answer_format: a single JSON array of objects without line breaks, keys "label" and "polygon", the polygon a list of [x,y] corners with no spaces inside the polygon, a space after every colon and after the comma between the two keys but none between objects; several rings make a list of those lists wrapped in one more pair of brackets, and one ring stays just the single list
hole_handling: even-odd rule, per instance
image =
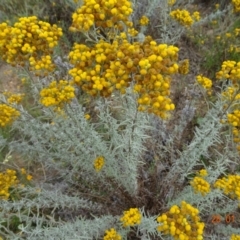
[{"label": "lowest yellow flower cluster cut off by the left edge", "polygon": [[15,170],[7,169],[0,173],[0,199],[8,199],[10,196],[9,190],[18,183]]}]

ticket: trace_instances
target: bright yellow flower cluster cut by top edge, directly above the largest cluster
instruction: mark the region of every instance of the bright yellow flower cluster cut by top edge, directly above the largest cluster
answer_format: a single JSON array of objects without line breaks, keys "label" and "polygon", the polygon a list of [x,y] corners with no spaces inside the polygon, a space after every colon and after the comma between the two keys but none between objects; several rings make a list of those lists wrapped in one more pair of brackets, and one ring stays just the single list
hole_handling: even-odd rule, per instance
[{"label": "bright yellow flower cluster cut by top edge, directly above the largest cluster", "polygon": [[70,30],[88,31],[94,24],[96,27],[121,30],[123,23],[132,26],[128,21],[132,12],[132,4],[128,0],[84,0],[83,5],[72,15]]}]

